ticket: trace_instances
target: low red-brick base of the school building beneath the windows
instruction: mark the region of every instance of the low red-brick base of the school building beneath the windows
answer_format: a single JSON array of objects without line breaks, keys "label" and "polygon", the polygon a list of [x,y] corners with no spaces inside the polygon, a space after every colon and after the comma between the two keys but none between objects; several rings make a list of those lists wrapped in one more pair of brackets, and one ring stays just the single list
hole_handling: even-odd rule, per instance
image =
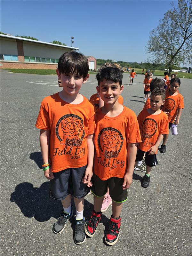
[{"label": "low red-brick base of the school building beneath the windows", "polygon": [[0,61],[0,68],[24,68],[24,69],[56,69],[57,64],[35,64],[35,63],[21,63],[21,62],[4,62]]}]

